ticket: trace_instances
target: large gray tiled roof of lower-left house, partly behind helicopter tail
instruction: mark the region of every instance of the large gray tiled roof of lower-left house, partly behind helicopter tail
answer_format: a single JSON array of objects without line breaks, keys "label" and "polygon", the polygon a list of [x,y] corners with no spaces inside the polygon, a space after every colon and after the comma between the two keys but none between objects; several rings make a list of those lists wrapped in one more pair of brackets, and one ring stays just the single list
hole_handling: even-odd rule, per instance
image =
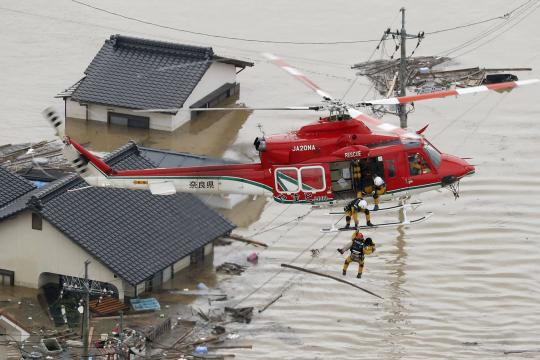
[{"label": "large gray tiled roof of lower-left house, partly behind helicopter tail", "polygon": [[[115,169],[155,167],[133,143],[104,160]],[[36,191],[30,202],[51,224],[132,285],[235,227],[190,194],[154,196],[148,191],[87,188],[77,175]]]}]

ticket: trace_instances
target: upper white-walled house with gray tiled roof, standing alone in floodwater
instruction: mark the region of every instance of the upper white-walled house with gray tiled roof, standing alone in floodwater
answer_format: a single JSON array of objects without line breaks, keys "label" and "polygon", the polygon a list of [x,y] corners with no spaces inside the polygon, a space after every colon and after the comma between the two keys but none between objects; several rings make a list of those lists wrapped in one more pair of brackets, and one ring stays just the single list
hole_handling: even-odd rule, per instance
[{"label": "upper white-walled house with gray tiled roof, standing alone in floodwater", "polygon": [[198,47],[112,35],[59,93],[66,118],[174,131],[197,113],[239,93],[236,74],[253,63]]}]

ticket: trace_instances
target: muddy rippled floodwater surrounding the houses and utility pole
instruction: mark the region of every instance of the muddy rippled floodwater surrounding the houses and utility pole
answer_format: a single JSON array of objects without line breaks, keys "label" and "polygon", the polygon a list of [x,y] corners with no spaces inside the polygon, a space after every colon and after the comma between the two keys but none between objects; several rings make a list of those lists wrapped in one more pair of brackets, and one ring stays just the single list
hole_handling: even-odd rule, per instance
[{"label": "muddy rippled floodwater surrounding the houses and utility pole", "polygon": [[[407,8],[410,33],[425,31],[415,55],[437,55],[480,36],[456,51],[461,67],[532,67],[521,79],[540,78],[540,10],[522,21],[505,20],[430,35],[431,31],[502,16],[523,1],[328,2],[247,0],[143,1],[89,0],[88,3],[166,26],[234,37],[331,42],[379,39],[399,25]],[[533,1],[537,7],[537,1]],[[532,2],[531,2],[532,4]],[[540,5],[540,4],[539,4]],[[532,11],[534,8],[531,8]],[[212,46],[222,56],[253,61],[238,75],[238,103],[246,106],[315,105],[308,88],[263,60],[273,52],[345,100],[373,98],[365,78],[353,83],[350,66],[366,61],[377,42],[339,45],[287,45],[238,42],[189,35],[104,14],[72,1],[0,0],[0,144],[53,138],[41,110],[83,75],[111,34]],[[515,25],[515,26],[514,26]],[[495,36],[497,36],[495,38]],[[490,40],[492,39],[493,40]],[[478,45],[484,44],[476,48]],[[389,55],[394,42],[387,42]],[[416,42],[409,41],[407,53]],[[470,51],[470,52],[469,52]],[[380,57],[376,52],[374,59]],[[388,58],[388,56],[386,57]],[[332,218],[324,210],[268,202],[260,219],[238,233],[267,243],[261,250],[233,243],[216,248],[214,264],[245,263],[253,251],[259,263],[239,277],[217,276],[231,304],[262,309],[249,325],[237,325],[253,350],[237,359],[527,359],[540,357],[540,87],[512,93],[481,93],[416,104],[409,126],[420,129],[441,151],[470,157],[476,174],[461,182],[460,197],[446,190],[425,193],[416,211],[434,212],[427,222],[400,229],[366,232],[377,244],[366,257],[361,280],[351,265],[347,280],[381,295],[379,300],[330,279],[286,270],[289,263],[341,276],[344,256],[336,252],[349,234],[322,235]],[[169,134],[128,132],[98,123],[68,121],[68,133],[93,150],[110,151],[129,139],[144,146],[252,161],[259,124],[269,135],[296,129],[320,114],[236,112],[208,115]],[[398,119],[385,120],[398,124]],[[259,215],[246,205],[240,225]],[[301,221],[300,216],[310,212]],[[249,218],[248,218],[249,216]],[[374,222],[395,220],[377,214]],[[234,218],[234,215],[232,215]],[[312,257],[310,249],[319,249]],[[206,273],[205,273],[206,274]],[[205,279],[214,279],[206,274]],[[183,285],[183,283],[181,284]],[[179,285],[180,286],[180,285]],[[0,290],[2,291],[2,290]],[[6,296],[4,296],[6,297]],[[202,303],[206,299],[200,300]],[[0,304],[1,305],[1,304]],[[536,350],[537,352],[521,352]],[[505,354],[507,352],[507,354]],[[508,353],[509,352],[509,353]]]}]

